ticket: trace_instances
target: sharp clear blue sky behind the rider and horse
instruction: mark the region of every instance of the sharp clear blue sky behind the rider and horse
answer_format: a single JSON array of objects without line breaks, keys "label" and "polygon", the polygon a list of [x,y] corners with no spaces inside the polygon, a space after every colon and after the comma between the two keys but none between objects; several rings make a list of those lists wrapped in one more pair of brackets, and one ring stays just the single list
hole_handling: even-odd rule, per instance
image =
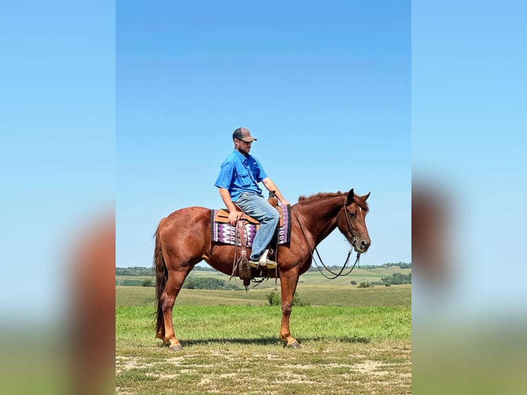
[{"label": "sharp clear blue sky behind the rider and horse", "polygon": [[[150,266],[160,219],[223,206],[248,127],[290,202],[372,192],[363,264],[411,261],[409,2],[127,1],[116,22],[117,266]],[[321,245],[342,264],[340,233]]]}]

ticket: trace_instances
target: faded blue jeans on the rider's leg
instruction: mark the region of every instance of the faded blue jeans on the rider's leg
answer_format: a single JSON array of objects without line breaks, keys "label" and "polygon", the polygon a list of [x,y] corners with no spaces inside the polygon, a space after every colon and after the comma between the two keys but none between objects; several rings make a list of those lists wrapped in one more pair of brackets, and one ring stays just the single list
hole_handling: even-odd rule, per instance
[{"label": "faded blue jeans on the rider's leg", "polygon": [[244,192],[235,203],[241,207],[244,213],[260,222],[260,228],[256,233],[255,240],[252,242],[252,252],[250,254],[250,259],[257,260],[271,242],[272,235],[275,233],[280,220],[280,214],[264,197],[256,193]]}]

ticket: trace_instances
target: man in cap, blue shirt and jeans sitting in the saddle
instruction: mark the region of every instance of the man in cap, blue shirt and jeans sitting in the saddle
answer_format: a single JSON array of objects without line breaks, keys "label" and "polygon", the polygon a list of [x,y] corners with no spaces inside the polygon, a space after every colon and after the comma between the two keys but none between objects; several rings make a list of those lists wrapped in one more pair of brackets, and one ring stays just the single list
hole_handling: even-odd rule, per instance
[{"label": "man in cap, blue shirt and jeans sitting in the saddle", "polygon": [[229,211],[228,222],[235,225],[241,217],[236,210],[235,202],[244,213],[259,220],[260,228],[252,242],[252,252],[249,264],[253,268],[266,266],[276,268],[277,263],[268,259],[268,245],[272,235],[275,233],[280,215],[261,194],[258,183],[264,184],[268,191],[275,191],[275,196],[283,206],[289,202],[283,198],[279,189],[270,178],[268,178],[259,160],[250,155],[252,142],[257,140],[250,136],[249,129],[239,127],[233,133],[234,151],[222,164],[215,186],[219,188],[219,195]]}]

